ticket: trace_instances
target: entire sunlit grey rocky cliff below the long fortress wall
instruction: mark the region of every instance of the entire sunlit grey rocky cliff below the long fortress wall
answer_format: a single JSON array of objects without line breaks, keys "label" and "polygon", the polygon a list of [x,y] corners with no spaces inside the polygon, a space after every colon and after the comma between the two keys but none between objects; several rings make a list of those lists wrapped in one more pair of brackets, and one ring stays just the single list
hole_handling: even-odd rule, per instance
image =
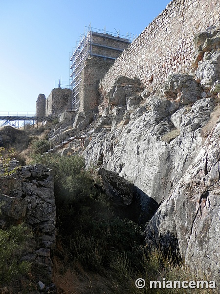
[{"label": "entire sunlit grey rocky cliff below the long fortress wall", "polygon": [[119,76],[102,93],[84,156],[160,204],[147,244],[171,246],[219,280],[220,30],[208,28],[194,42],[191,72],[168,76],[156,90]]}]

